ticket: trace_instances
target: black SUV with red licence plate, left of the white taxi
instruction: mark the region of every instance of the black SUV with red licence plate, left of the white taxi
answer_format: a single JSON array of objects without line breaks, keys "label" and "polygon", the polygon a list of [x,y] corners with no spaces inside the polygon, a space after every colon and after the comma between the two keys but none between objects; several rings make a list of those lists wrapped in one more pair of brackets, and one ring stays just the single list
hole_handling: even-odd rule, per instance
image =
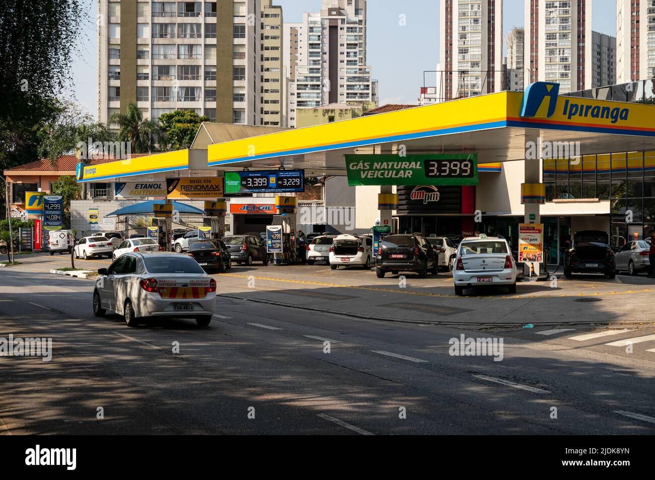
[{"label": "black SUV with red licence plate, left of the white taxi", "polygon": [[438,267],[439,254],[420,234],[387,235],[375,256],[377,278],[384,278],[386,272],[417,272],[419,278],[425,278],[428,271],[436,275]]}]

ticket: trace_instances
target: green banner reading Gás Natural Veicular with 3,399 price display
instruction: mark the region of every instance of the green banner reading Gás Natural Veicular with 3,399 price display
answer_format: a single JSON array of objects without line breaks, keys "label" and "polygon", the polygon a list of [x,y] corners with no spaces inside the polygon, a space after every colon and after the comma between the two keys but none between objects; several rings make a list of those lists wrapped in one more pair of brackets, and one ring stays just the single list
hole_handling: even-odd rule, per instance
[{"label": "green banner reading G\u00e1s Natural Veicular with 3,399 price display", "polygon": [[477,185],[477,153],[346,155],[348,185]]}]

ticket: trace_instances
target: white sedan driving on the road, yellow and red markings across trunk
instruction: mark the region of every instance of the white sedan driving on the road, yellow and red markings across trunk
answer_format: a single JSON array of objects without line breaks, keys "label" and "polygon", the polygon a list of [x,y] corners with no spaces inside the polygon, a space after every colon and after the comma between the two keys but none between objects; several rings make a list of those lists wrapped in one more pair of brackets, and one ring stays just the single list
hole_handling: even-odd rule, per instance
[{"label": "white sedan driving on the road, yellow and red markings across trunk", "polygon": [[100,268],[93,312],[124,316],[128,327],[145,317],[195,318],[206,327],[216,304],[216,280],[187,255],[172,252],[125,253]]}]

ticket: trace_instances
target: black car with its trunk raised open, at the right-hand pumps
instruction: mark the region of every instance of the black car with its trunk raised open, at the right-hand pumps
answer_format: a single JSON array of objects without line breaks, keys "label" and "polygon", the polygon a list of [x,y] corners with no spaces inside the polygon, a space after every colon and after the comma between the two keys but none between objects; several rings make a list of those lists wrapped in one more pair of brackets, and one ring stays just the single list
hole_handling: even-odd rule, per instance
[{"label": "black car with its trunk raised open, at the right-hand pumps", "polygon": [[571,248],[564,252],[564,275],[602,273],[608,278],[616,276],[614,251],[609,235],[601,230],[582,230],[573,234]]}]

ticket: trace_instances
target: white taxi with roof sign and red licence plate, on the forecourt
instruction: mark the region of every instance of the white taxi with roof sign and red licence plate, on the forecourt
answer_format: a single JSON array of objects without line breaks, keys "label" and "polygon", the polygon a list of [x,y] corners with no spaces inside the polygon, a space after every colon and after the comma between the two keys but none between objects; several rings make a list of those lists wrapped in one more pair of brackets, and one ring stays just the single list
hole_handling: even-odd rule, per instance
[{"label": "white taxi with roof sign and red licence plate, on the forecourt", "polygon": [[506,286],[510,293],[516,293],[516,273],[507,240],[485,235],[464,238],[455,253],[455,295],[484,286]]}]

